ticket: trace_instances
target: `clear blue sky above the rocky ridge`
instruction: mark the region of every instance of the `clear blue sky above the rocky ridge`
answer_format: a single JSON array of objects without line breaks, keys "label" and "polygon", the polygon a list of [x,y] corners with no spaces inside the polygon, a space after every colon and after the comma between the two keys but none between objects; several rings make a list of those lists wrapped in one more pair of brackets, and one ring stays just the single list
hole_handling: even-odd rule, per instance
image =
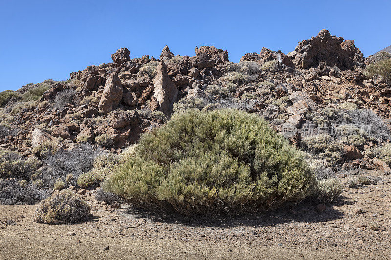
[{"label": "clear blue sky above the rocky ridge", "polygon": [[386,0],[0,0],[0,91],[66,80],[121,47],[134,58],[214,45],[238,62],[326,28],[369,56],[391,44],[390,10]]}]

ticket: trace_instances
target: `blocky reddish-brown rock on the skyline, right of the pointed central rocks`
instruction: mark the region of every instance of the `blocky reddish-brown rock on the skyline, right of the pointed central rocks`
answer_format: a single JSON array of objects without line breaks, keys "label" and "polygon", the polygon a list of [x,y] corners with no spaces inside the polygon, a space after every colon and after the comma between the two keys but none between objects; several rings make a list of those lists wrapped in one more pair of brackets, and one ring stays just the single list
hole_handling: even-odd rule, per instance
[{"label": "blocky reddish-brown rock on the skyline, right of the pointed central rocks", "polygon": [[228,62],[228,52],[217,49],[215,46],[195,47],[198,69],[211,68],[214,65]]}]

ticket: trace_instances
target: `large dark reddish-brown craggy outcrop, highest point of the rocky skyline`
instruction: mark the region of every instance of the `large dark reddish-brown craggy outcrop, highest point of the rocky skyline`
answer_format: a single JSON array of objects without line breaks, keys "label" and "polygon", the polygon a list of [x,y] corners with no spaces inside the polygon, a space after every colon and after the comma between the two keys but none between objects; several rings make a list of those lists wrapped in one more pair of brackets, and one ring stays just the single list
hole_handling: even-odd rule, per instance
[{"label": "large dark reddish-brown craggy outcrop, highest point of the rocky skyline", "polygon": [[354,41],[331,36],[323,29],[315,37],[299,42],[295,51],[288,53],[293,63],[300,68],[317,67],[321,61],[328,66],[337,66],[342,70],[364,67],[364,55],[354,46]]}]

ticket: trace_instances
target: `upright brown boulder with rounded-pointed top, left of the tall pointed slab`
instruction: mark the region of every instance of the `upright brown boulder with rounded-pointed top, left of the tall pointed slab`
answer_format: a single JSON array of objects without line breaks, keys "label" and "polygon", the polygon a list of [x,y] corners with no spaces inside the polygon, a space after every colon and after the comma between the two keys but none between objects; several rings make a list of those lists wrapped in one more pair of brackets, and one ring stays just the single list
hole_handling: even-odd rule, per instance
[{"label": "upright brown boulder with rounded-pointed top, left of the tall pointed slab", "polygon": [[118,74],[113,72],[106,80],[98,109],[102,114],[107,114],[117,108],[122,99],[122,84]]}]

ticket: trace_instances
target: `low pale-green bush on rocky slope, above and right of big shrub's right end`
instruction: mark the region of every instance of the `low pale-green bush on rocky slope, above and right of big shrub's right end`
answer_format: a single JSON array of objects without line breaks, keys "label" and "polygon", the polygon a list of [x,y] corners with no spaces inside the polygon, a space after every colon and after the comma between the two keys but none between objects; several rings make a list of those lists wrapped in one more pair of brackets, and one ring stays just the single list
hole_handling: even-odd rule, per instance
[{"label": "low pale-green bush on rocky slope, above and right of big shrub's right end", "polygon": [[312,152],[317,158],[332,164],[341,160],[343,154],[343,145],[325,134],[305,137],[302,146],[305,151]]}]

